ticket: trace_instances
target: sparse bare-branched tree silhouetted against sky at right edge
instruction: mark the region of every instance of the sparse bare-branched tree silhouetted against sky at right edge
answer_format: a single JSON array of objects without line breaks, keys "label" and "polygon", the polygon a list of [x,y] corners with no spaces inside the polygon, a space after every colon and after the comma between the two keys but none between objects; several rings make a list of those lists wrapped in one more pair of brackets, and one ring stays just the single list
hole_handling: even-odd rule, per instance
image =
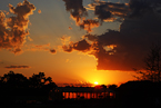
[{"label": "sparse bare-branched tree silhouetted against sky at right edge", "polygon": [[140,77],[134,76],[140,80],[150,80],[150,81],[161,81],[161,48],[154,46],[150,49],[150,52],[144,58],[145,70],[137,71],[140,73]]}]

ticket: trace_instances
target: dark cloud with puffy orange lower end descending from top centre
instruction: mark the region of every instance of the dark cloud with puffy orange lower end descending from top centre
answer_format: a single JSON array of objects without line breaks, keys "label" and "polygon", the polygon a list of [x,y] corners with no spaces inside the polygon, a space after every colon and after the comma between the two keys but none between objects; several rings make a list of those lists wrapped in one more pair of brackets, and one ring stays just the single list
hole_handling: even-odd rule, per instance
[{"label": "dark cloud with puffy orange lower end descending from top centre", "polygon": [[[99,27],[99,21],[93,19],[85,19],[88,16],[87,9],[82,4],[82,0],[63,0],[66,2],[66,10],[70,12],[71,18],[76,24],[81,29],[91,32],[92,28]],[[70,28],[69,28],[70,29]]]}]

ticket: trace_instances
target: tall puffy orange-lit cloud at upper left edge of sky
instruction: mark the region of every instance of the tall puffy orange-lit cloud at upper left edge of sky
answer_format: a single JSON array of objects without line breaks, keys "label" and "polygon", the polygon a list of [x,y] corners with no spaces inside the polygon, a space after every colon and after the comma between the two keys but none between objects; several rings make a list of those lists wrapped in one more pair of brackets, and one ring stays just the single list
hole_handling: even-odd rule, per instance
[{"label": "tall puffy orange-lit cloud at upper left edge of sky", "polygon": [[3,48],[18,53],[21,52],[26,36],[29,35],[29,16],[33,13],[36,8],[24,0],[22,3],[18,3],[16,8],[9,4],[9,10],[14,16],[7,18],[4,12],[0,11],[0,49]]}]

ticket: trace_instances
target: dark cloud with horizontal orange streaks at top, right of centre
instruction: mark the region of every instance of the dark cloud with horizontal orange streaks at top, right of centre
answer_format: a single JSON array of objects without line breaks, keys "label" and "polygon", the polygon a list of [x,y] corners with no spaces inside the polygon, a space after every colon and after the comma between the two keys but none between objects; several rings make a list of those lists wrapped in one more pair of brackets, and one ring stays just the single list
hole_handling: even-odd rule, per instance
[{"label": "dark cloud with horizontal orange streaks at top, right of centre", "polygon": [[114,21],[119,19],[118,17],[124,18],[129,12],[128,6],[124,3],[95,1],[90,7],[93,7],[94,14],[101,21]]}]

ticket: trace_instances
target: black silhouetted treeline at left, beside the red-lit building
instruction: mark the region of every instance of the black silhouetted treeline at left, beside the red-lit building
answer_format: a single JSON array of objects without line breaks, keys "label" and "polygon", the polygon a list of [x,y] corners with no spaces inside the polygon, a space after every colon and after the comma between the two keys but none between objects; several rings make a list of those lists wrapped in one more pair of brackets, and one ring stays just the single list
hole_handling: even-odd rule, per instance
[{"label": "black silhouetted treeline at left, beside the red-lit building", "polygon": [[22,73],[10,71],[0,77],[0,104],[47,101],[50,90],[56,87],[52,78],[46,77],[44,72],[27,78]]}]

